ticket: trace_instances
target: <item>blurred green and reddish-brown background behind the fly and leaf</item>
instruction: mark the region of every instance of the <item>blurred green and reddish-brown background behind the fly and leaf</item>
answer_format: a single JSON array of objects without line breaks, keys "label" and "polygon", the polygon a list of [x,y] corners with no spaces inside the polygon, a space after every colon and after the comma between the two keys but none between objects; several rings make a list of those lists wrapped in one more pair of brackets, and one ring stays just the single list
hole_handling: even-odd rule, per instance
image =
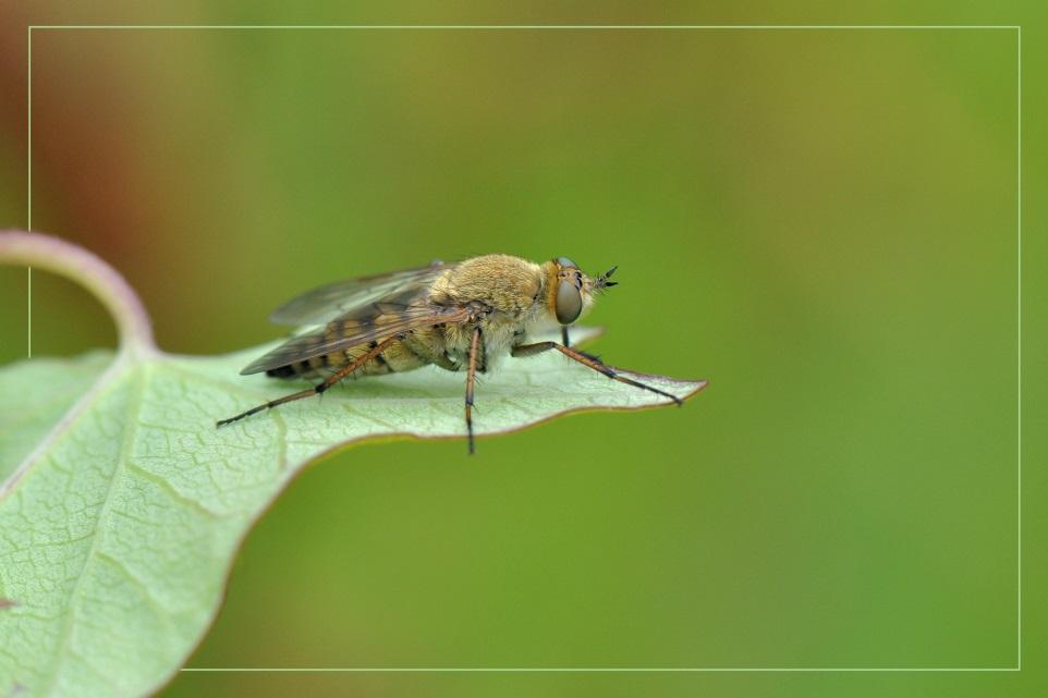
[{"label": "blurred green and reddish-brown background behind the fly and leaf", "polygon": [[[26,225],[29,23],[1023,19],[330,5],[4,7],[0,223]],[[273,339],[272,307],[334,279],[566,255],[620,266],[589,318],[606,359],[710,380],[474,458],[326,458],[251,535],[190,665],[1015,666],[1015,70],[1011,29],[34,32],[33,228],[119,268],[164,350]],[[78,289],[33,283],[34,354],[113,344]],[[2,269],[4,363],[25,294]],[[1033,696],[1024,581],[1021,674],[184,673],[163,695]]]}]

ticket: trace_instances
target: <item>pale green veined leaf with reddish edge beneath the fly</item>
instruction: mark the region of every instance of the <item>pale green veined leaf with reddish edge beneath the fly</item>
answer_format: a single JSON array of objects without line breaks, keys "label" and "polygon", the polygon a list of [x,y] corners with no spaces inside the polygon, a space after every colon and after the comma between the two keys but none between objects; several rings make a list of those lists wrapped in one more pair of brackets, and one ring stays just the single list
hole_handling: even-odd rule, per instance
[{"label": "pale green veined leaf with reddish edge beneath the fly", "polygon": [[[3,243],[0,234],[0,261]],[[94,274],[90,264],[62,270]],[[253,523],[307,463],[363,439],[463,436],[463,377],[436,368],[351,381],[216,429],[216,418],[295,383],[237,375],[266,346],[217,357],[156,351],[137,301],[120,297],[127,291],[102,298],[122,318],[118,353],[0,369],[0,695],[157,689],[212,622]],[[680,397],[705,385],[639,379]],[[487,377],[476,428],[665,402],[550,352]]]}]

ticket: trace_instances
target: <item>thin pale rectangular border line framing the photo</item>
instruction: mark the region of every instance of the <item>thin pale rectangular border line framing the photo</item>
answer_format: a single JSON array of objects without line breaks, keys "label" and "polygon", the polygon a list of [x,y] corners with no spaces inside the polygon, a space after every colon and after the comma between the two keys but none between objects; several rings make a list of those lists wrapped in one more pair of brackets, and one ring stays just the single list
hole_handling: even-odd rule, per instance
[{"label": "thin pale rectangular border line framing the photo", "polygon": [[[600,666],[361,666],[361,668],[191,668],[183,666],[180,672],[270,672],[270,673],[746,673],[746,672],[1020,672],[1023,665],[1023,28],[1021,25],[1004,24],[934,24],[934,25],[890,25],[890,24],[31,24],[26,27],[26,230],[33,230],[33,30],[34,29],[462,29],[462,30],[648,30],[648,29],[714,29],[714,30],[766,30],[766,29],[1012,29],[1015,32],[1016,54],[1016,142],[1015,142],[1015,211],[1016,211],[1016,658],[1015,666],[999,668],[822,668],[822,666],[668,666],[668,668],[600,668]],[[26,268],[26,355],[33,357],[33,268]]]}]

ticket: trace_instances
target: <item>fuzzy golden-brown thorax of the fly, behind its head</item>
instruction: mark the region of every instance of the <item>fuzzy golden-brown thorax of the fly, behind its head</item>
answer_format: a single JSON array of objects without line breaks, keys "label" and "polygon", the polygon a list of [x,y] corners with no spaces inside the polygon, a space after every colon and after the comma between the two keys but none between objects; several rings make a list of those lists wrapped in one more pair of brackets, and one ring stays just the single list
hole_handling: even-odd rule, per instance
[{"label": "fuzzy golden-brown thorax of the fly, behind its head", "polygon": [[484,255],[455,265],[432,284],[430,298],[440,305],[478,302],[514,318],[543,295],[541,268],[510,255]]}]

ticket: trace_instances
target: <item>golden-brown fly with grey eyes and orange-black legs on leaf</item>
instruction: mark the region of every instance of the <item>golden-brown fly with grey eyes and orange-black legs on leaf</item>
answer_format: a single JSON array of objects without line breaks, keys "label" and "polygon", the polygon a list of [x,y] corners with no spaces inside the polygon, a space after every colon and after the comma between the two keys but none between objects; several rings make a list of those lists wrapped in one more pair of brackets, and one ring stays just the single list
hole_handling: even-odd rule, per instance
[{"label": "golden-brown fly with grey eyes and orange-black legs on leaf", "polygon": [[[319,395],[350,376],[380,376],[435,365],[465,371],[465,421],[474,452],[476,375],[495,359],[557,351],[608,378],[672,400],[675,395],[622,376],[595,356],[573,348],[568,329],[594,303],[616,267],[589,277],[566,257],[541,265],[509,255],[484,255],[456,264],[349,281],[309,291],[277,308],[277,324],[318,324],[253,362],[241,375],[275,378],[327,375],[313,388],[278,397],[222,419],[219,427],[264,409]],[[529,342],[560,328],[561,342]]]}]

